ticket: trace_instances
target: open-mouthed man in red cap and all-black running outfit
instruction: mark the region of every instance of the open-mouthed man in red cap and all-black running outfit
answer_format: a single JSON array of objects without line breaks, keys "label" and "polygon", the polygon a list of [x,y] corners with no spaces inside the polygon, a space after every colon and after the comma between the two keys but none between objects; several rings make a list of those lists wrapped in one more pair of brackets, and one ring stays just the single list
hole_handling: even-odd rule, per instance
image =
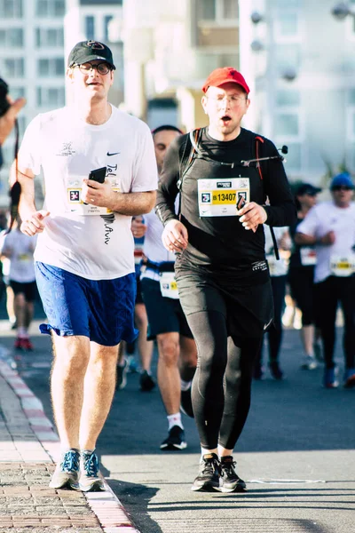
[{"label": "open-mouthed man in red cap and all-black running outfit", "polygon": [[[263,225],[293,224],[296,208],[276,147],[241,128],[249,106],[243,76],[217,68],[202,91],[209,127],[170,145],[156,212],[162,242],[177,252],[179,298],[198,348],[192,397],[201,465],[192,489],[233,492],[246,489],[233,448],[248,416],[256,354],[272,322]],[[263,157],[273,159],[243,166]]]}]

